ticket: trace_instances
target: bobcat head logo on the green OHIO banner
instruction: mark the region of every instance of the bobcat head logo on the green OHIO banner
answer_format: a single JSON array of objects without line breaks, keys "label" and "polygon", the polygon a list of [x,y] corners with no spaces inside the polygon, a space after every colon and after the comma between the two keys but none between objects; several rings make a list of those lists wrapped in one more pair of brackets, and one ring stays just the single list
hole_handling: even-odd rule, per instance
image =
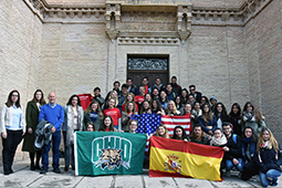
[{"label": "bobcat head logo on the green OHIO banner", "polygon": [[100,155],[100,160],[94,163],[96,167],[101,166],[103,170],[106,167],[109,170],[113,170],[115,167],[119,168],[121,165],[123,165],[126,169],[129,168],[129,164],[122,159],[122,149],[108,148],[100,150],[102,152],[102,154]]}]

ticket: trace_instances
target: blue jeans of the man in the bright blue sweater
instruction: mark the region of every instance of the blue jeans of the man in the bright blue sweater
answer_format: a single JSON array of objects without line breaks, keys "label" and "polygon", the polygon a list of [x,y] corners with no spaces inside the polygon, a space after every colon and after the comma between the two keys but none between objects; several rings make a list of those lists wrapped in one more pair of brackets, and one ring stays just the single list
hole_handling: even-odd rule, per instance
[{"label": "blue jeans of the man in the bright blue sweater", "polygon": [[[53,168],[59,168],[59,159],[60,159],[60,144],[61,144],[61,130],[58,130],[52,134],[52,153],[53,153]],[[42,149],[42,165],[43,169],[48,169],[49,165],[49,150],[51,147],[51,142],[48,145],[43,146]]]}]

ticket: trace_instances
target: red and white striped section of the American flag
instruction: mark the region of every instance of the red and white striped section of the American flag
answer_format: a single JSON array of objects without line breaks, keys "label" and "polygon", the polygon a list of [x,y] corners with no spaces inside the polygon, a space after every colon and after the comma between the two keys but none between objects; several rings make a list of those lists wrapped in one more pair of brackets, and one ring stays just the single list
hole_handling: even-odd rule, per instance
[{"label": "red and white striped section of the American flag", "polygon": [[192,130],[191,119],[189,116],[161,115],[161,124],[166,125],[169,137],[174,136],[174,129],[177,125],[184,127],[187,136],[189,136]]}]

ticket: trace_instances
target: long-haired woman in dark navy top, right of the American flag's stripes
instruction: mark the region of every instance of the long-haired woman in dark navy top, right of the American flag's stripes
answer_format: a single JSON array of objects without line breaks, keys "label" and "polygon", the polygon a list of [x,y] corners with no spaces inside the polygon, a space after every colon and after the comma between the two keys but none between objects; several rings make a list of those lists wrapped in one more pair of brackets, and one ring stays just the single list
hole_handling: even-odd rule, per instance
[{"label": "long-haired woman in dark navy top, right of the American flag's stripes", "polygon": [[205,104],[202,109],[202,115],[199,117],[199,124],[201,129],[209,134],[213,135],[215,129],[218,127],[217,117],[212,115],[209,104]]}]

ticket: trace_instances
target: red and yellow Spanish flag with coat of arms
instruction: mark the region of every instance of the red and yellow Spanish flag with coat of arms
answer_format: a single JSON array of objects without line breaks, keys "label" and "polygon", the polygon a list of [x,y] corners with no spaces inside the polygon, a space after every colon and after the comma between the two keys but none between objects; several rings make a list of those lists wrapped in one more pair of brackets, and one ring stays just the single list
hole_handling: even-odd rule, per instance
[{"label": "red and yellow Spanish flag with coat of arms", "polygon": [[150,138],[150,177],[192,177],[221,181],[221,147],[153,136]]}]

